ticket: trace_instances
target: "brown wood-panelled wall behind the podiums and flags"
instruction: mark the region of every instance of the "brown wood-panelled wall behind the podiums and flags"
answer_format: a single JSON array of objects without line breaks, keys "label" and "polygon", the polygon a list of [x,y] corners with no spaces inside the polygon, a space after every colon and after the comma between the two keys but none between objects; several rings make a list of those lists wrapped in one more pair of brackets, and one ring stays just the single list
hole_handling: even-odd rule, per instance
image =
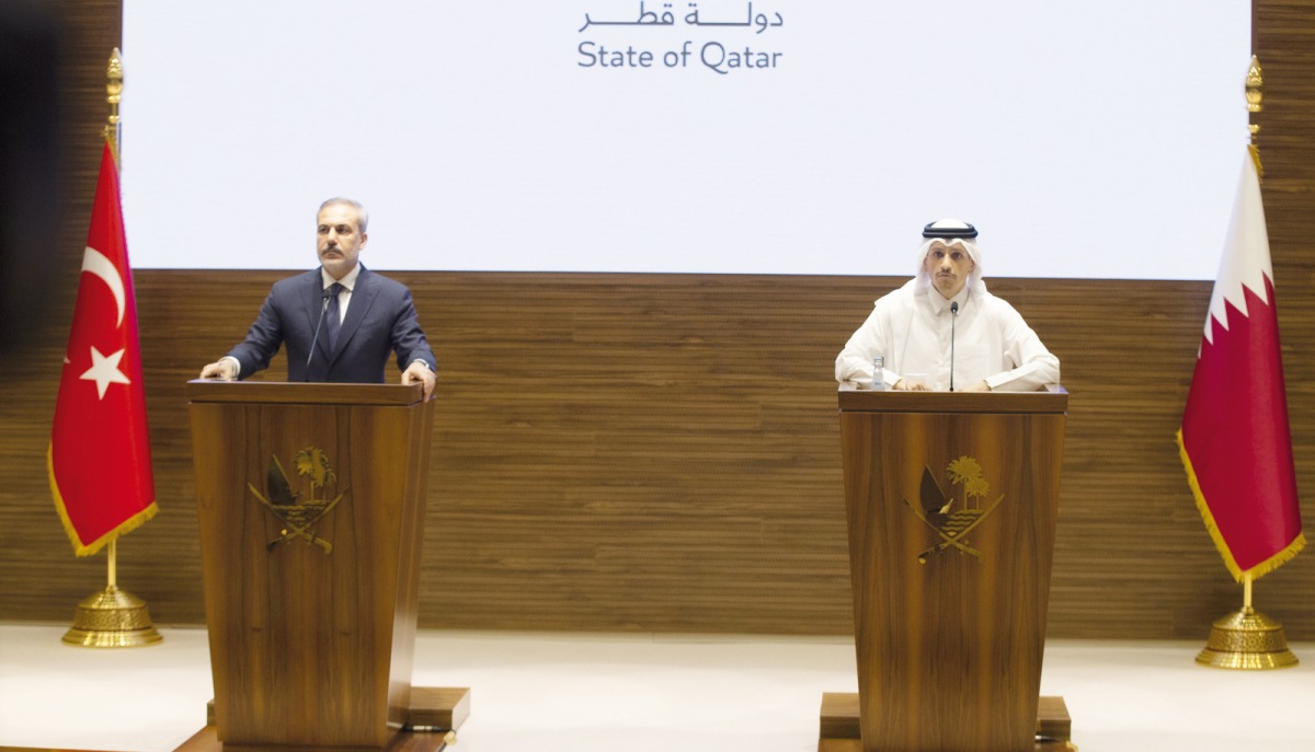
[{"label": "brown wood-panelled wall behind the podiums and flags", "polygon": [[[1298,481],[1315,521],[1315,0],[1257,9],[1266,212]],[[1244,71],[1240,60],[1239,106]],[[87,184],[83,166],[70,177],[70,270]],[[135,275],[160,514],[124,539],[120,578],[159,623],[204,618],[183,383],[241,338],[280,276]],[[393,276],[412,285],[442,371],[422,626],[849,631],[832,360],[902,280]],[[1210,283],[989,283],[1060,356],[1070,390],[1049,634],[1203,639],[1241,601],[1173,438]],[[67,317],[12,365],[0,406],[0,619],[67,621],[104,582],[103,557],[72,557],[45,480],[66,337]],[[1262,580],[1257,605],[1290,638],[1315,639],[1311,592],[1315,552]]]}]

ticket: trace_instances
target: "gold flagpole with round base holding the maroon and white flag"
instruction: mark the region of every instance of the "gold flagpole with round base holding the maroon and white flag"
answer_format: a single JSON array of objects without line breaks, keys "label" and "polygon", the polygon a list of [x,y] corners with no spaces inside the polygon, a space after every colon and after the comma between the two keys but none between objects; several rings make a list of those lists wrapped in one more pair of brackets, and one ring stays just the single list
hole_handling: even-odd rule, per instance
[{"label": "gold flagpole with round base holding the maroon and white flag", "polygon": [[[1251,158],[1256,160],[1256,174],[1261,179],[1264,179],[1265,171],[1260,166],[1260,147],[1256,145],[1256,135],[1260,134],[1257,116],[1261,109],[1264,83],[1260,58],[1252,55],[1251,67],[1247,70],[1247,129],[1251,131],[1251,143],[1247,149],[1251,151]],[[1297,665],[1297,656],[1287,649],[1283,624],[1252,607],[1252,582],[1251,572],[1243,575],[1241,610],[1233,611],[1210,626],[1210,639],[1206,642],[1205,649],[1197,655],[1197,663],[1214,668],[1249,670]]]}]

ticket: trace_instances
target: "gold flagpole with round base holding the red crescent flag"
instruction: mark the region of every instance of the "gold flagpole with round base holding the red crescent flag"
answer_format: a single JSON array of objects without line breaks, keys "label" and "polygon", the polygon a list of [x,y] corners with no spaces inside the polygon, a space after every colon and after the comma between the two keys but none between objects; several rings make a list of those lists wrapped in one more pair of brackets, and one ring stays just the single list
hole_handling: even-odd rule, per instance
[{"label": "gold flagpole with round base holding the red crescent flag", "polygon": [[[109,121],[104,134],[118,163],[118,101],[124,93],[124,62],[114,47],[105,70],[105,101],[109,104]],[[92,593],[78,603],[74,626],[64,632],[63,642],[88,648],[129,648],[155,644],[163,638],[151,624],[146,602],[126,590],[118,589],[118,538],[107,547],[107,585],[104,590]]]}]

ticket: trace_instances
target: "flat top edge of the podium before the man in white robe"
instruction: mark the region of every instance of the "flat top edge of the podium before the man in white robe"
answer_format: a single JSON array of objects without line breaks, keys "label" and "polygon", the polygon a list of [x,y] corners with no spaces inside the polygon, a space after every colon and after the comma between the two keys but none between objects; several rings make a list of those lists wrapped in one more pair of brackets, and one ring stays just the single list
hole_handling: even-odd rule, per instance
[{"label": "flat top edge of the podium before the man in white robe", "polygon": [[1068,392],[896,392],[840,384],[842,413],[1068,413]]}]

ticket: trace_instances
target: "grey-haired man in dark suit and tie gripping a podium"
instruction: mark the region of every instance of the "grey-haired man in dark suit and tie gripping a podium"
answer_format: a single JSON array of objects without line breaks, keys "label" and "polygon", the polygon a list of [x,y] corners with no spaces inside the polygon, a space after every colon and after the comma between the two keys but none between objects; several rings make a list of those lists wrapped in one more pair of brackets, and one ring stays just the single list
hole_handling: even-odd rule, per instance
[{"label": "grey-haired man in dark suit and tie gripping a podium", "polygon": [[289,381],[384,383],[389,351],[402,384],[434,390],[437,360],[410,291],[360,264],[368,214],[350,199],[321,204],[321,267],[274,284],[246,341],[201,369],[201,379],[246,379],[288,347]]}]

